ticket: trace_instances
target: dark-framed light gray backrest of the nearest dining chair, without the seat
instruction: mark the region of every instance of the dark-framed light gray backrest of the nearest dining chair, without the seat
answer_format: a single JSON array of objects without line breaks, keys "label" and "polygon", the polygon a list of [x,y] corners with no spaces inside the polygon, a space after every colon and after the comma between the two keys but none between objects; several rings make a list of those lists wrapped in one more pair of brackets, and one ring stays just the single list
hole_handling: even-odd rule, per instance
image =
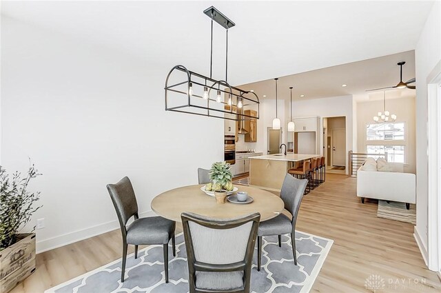
[{"label": "dark-framed light gray backrest of the nearest dining chair, without the seat", "polygon": [[244,287],[249,288],[260,214],[257,212],[236,219],[213,219],[183,212],[181,219],[189,281],[194,281],[198,271],[241,271],[244,272]]}]

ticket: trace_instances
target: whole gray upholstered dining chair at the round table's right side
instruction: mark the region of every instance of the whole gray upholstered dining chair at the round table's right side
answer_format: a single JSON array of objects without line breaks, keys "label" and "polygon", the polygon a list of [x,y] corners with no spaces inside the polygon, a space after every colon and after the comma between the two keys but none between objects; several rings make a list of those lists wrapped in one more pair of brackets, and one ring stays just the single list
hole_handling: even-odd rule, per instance
[{"label": "whole gray upholstered dining chair at the round table's right side", "polygon": [[296,256],[296,221],[303,194],[305,192],[307,179],[296,179],[290,174],[286,174],[283,181],[280,198],[285,203],[285,209],[291,213],[290,220],[285,214],[279,214],[273,219],[263,221],[259,225],[257,232],[257,270],[260,271],[260,260],[262,259],[262,236],[278,235],[278,246],[282,246],[282,234],[291,234],[292,254],[294,264],[297,265]]}]

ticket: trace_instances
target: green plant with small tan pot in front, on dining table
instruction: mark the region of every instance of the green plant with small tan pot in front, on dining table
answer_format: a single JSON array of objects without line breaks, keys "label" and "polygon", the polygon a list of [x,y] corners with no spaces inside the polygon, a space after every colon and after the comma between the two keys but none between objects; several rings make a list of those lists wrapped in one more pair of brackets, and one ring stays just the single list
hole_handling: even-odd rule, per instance
[{"label": "green plant with small tan pot in front, on dining table", "polygon": [[205,190],[213,190],[216,197],[216,203],[225,203],[225,197],[228,191],[234,189],[232,183],[232,172],[229,170],[229,163],[213,163],[209,172],[210,183],[205,186]]}]

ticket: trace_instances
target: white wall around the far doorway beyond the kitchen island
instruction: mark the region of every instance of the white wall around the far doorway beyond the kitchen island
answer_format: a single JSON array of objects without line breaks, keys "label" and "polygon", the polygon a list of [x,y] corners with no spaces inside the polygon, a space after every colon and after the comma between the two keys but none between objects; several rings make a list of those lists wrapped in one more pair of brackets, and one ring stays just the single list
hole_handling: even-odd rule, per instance
[{"label": "white wall around the far doorway beyond the kitchen island", "polygon": [[[346,152],[353,150],[352,96],[293,101],[293,119],[320,117],[320,154],[323,154],[323,117],[346,117]],[[346,165],[348,159],[346,156]],[[348,172],[349,168],[346,168]]]}]

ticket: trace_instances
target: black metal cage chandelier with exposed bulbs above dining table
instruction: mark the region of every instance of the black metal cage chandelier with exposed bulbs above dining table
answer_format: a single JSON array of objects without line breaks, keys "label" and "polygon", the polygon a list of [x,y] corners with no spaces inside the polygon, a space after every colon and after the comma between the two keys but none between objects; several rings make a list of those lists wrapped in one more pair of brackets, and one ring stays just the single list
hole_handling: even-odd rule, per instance
[{"label": "black metal cage chandelier with exposed bulbs above dining table", "polygon": [[[229,85],[228,74],[228,29],[234,22],[213,6],[204,10],[212,20],[209,77],[176,65],[165,80],[165,110],[216,117],[234,121],[258,119],[260,102],[257,94]],[[226,30],[225,81],[212,78],[213,69],[213,22]],[[246,110],[254,110],[252,115]]]}]

